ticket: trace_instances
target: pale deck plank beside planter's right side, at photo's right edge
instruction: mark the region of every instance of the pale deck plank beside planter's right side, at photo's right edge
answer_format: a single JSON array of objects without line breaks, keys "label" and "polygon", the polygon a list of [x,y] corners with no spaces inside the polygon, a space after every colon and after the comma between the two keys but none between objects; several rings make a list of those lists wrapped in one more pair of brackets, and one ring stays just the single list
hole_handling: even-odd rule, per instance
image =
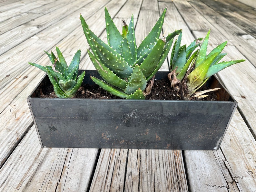
[{"label": "pale deck plank beside planter's right side, at photo's right edge", "polygon": [[[224,162],[241,191],[256,189],[256,141],[250,130],[235,112],[226,136],[221,145]],[[235,158],[234,158],[235,157]]]}]

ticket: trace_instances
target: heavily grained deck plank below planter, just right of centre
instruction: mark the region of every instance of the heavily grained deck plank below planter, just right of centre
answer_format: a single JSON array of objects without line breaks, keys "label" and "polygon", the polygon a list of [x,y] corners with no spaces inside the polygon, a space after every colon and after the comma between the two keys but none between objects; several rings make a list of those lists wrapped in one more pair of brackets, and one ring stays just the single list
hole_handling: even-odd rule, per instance
[{"label": "heavily grained deck plank below planter, just right of centre", "polygon": [[142,149],[139,160],[139,191],[188,191],[181,151]]}]

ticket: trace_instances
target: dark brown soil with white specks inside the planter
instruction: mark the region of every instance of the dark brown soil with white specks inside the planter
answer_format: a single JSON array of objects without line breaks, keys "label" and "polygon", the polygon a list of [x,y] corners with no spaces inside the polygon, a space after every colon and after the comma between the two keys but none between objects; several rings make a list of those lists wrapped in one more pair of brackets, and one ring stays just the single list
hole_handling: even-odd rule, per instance
[{"label": "dark brown soil with white specks inside the planter", "polygon": [[[209,87],[202,87],[198,91],[203,91],[210,89]],[[202,98],[202,101],[216,101],[216,93],[215,91],[206,93],[208,97]],[[54,93],[53,86],[50,85],[49,87],[43,90],[43,94],[40,96],[41,98],[57,98]],[[116,97],[98,85],[89,85],[89,84],[82,84],[80,87],[76,98],[83,98],[83,99],[121,99]],[[154,81],[154,85],[152,87],[151,93],[146,96],[146,100],[181,100],[180,96],[177,94],[175,90],[171,89],[171,83],[168,79],[161,79]],[[192,100],[197,100],[196,98]]]}]

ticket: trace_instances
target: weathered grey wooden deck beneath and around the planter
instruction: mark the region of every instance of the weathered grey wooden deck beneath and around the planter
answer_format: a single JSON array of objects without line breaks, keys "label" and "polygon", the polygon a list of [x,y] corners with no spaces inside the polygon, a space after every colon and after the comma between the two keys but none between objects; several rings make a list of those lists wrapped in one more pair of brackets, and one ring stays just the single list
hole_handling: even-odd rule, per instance
[{"label": "weathered grey wooden deck beneath and around the planter", "polygon": [[[216,151],[41,148],[26,101],[58,46],[93,69],[79,20],[105,38],[104,6],[121,27],[134,14],[143,39],[167,7],[164,31],[183,43],[228,40],[226,59],[247,59],[218,73],[238,108]],[[256,11],[234,0],[0,0],[0,191],[256,191]],[[162,70],[167,70],[167,63]]]}]

